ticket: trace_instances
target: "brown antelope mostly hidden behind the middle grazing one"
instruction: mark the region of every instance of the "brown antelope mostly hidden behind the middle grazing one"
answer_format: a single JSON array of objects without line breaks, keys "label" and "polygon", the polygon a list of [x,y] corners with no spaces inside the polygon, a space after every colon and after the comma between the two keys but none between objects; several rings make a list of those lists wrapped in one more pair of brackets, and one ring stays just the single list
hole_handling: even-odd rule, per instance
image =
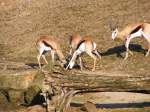
[{"label": "brown antelope mostly hidden behind the middle grazing one", "polygon": [[73,52],[76,50],[81,40],[82,37],[77,33],[73,33],[72,35],[69,36],[69,47],[70,47],[69,55],[73,54]]}]

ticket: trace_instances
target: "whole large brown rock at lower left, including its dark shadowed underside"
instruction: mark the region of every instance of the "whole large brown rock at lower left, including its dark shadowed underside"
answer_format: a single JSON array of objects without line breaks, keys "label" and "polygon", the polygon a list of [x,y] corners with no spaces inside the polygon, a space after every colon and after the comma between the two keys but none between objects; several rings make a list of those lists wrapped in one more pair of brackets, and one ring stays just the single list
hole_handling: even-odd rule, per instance
[{"label": "whole large brown rock at lower left, including its dark shadowed underside", "polygon": [[[23,70],[15,73],[0,74],[0,103],[20,105],[31,104],[42,89],[43,74],[38,70]],[[42,98],[41,98],[42,99]]]}]

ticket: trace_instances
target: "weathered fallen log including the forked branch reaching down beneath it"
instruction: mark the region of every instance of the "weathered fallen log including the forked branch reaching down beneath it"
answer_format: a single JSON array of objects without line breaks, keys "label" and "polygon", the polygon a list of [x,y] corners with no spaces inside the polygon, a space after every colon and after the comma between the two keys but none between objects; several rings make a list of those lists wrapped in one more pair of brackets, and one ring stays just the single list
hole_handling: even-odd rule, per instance
[{"label": "weathered fallen log including the forked branch reaching down beneath it", "polygon": [[[54,91],[61,91],[58,112],[64,111],[69,106],[72,97],[84,92],[144,92],[150,93],[150,75],[129,75],[113,72],[87,72],[65,71],[55,68],[50,73],[47,84],[51,84]],[[63,95],[62,95],[63,94]]]}]

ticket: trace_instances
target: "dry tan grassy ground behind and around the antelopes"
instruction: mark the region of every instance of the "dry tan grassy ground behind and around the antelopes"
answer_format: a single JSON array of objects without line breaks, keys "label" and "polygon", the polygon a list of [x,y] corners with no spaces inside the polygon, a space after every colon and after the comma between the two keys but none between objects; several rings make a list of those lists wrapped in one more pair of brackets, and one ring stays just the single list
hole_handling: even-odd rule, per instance
[{"label": "dry tan grassy ground behind and around the antelopes", "polygon": [[[97,43],[102,60],[97,62],[96,72],[149,75],[150,56],[144,57],[146,41],[133,40],[134,55],[123,61],[123,42],[112,41],[109,28],[110,22],[118,22],[120,30],[127,24],[149,22],[149,7],[149,0],[0,0],[0,70],[9,62],[37,64],[35,41],[41,35],[53,35],[67,55],[68,35],[77,32]],[[92,59],[85,56],[83,60],[85,70],[90,70]],[[150,101],[146,95],[143,102],[147,97]]]}]

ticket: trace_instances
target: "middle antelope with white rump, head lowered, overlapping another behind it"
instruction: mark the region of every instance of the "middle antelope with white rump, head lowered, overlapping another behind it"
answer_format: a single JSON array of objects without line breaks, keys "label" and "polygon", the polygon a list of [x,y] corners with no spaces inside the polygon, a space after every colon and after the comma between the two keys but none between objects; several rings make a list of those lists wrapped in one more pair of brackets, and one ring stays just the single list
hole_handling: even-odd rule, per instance
[{"label": "middle antelope with white rump, head lowered, overlapping another behind it", "polygon": [[80,61],[80,67],[81,70],[83,70],[82,66],[82,59],[81,59],[81,54],[82,53],[87,53],[90,57],[94,59],[94,65],[92,71],[95,71],[95,65],[96,65],[96,60],[97,58],[101,58],[100,54],[96,50],[96,43],[92,41],[89,37],[84,37],[77,45],[77,48],[75,52],[73,53],[73,56],[67,65],[66,69],[70,68],[72,69],[76,58],[79,56],[79,61]]}]

